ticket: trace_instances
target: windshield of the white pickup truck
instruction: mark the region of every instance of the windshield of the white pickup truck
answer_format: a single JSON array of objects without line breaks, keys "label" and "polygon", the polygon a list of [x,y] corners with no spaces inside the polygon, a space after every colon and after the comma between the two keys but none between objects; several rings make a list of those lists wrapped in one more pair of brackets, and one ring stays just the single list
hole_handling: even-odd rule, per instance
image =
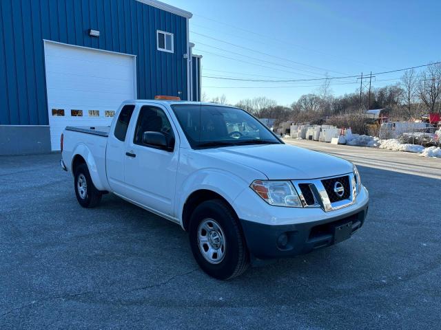
[{"label": "windshield of the white pickup truck", "polygon": [[281,143],[242,109],[201,104],[174,104],[172,109],[192,148]]}]

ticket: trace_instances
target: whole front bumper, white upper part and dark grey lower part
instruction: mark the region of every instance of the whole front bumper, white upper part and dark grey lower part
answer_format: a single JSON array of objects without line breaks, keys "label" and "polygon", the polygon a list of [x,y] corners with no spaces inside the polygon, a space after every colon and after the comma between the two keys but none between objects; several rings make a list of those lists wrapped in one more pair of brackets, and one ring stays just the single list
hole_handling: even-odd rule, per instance
[{"label": "whole front bumper, white upper part and dark grey lower part", "polygon": [[[324,212],[314,208],[272,206],[272,219],[264,215],[264,221],[262,214],[265,212],[261,212],[260,217],[246,219],[239,216],[239,219],[249,252],[258,259],[275,259],[333,245],[337,240],[334,232],[338,225],[349,223],[352,235],[365,223],[368,208],[369,195],[363,187],[356,203],[340,210]],[[287,212],[291,213],[291,219],[288,219]],[[252,214],[256,212],[248,212],[247,215]]]}]

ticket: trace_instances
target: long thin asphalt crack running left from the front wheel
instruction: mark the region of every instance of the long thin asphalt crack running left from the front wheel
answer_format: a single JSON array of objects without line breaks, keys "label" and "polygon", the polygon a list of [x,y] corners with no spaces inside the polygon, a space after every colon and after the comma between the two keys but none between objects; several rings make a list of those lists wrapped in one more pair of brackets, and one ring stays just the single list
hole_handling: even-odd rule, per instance
[{"label": "long thin asphalt crack running left from the front wheel", "polygon": [[43,298],[43,299],[39,299],[39,300],[33,300],[30,303],[21,305],[21,306],[17,306],[14,307],[8,311],[6,311],[3,314],[0,314],[0,319],[3,318],[4,316],[13,313],[14,311],[18,311],[20,309],[25,309],[26,307],[30,307],[32,305],[36,305],[39,303],[45,303],[46,301],[50,301],[50,300],[59,300],[59,299],[67,299],[67,298],[74,298],[74,297],[78,297],[78,296],[84,296],[87,294],[129,294],[130,292],[134,292],[134,291],[139,291],[139,290],[145,290],[145,289],[151,289],[152,287],[161,287],[162,285],[166,285],[167,283],[170,283],[172,281],[174,281],[174,279],[179,278],[179,277],[183,277],[183,276],[187,276],[189,274],[192,274],[194,272],[196,272],[199,268],[195,268],[194,270],[190,270],[189,272],[185,272],[182,274],[176,274],[170,278],[167,278],[165,281],[159,282],[159,283],[155,283],[152,285],[145,285],[143,287],[134,287],[132,289],[128,289],[128,290],[116,290],[116,291],[85,291],[85,292],[79,292],[77,294],[64,294],[62,296],[52,296],[52,297],[48,297],[48,298]]}]

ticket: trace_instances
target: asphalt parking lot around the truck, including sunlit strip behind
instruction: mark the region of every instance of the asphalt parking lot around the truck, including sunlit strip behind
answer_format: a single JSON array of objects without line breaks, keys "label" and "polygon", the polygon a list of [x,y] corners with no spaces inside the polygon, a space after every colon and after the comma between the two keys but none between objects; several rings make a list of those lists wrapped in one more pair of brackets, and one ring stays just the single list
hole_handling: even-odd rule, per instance
[{"label": "asphalt parking lot around the truck, including sunlit strip behind", "polygon": [[232,281],[174,223],[114,195],[81,208],[59,154],[0,157],[0,329],[439,329],[441,159],[288,143],[358,164],[365,226]]}]

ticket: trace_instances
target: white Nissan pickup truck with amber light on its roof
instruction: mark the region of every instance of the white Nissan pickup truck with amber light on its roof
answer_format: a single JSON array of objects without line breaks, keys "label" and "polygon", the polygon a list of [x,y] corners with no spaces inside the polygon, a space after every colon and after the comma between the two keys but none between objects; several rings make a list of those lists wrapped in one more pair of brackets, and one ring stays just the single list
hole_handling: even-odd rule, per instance
[{"label": "white Nissan pickup truck with amber light on its roof", "polygon": [[367,215],[356,166],[289,146],[236,107],[129,100],[110,127],[66,127],[61,150],[81,206],[113,192],[178,223],[215,278],[349,239]]}]

